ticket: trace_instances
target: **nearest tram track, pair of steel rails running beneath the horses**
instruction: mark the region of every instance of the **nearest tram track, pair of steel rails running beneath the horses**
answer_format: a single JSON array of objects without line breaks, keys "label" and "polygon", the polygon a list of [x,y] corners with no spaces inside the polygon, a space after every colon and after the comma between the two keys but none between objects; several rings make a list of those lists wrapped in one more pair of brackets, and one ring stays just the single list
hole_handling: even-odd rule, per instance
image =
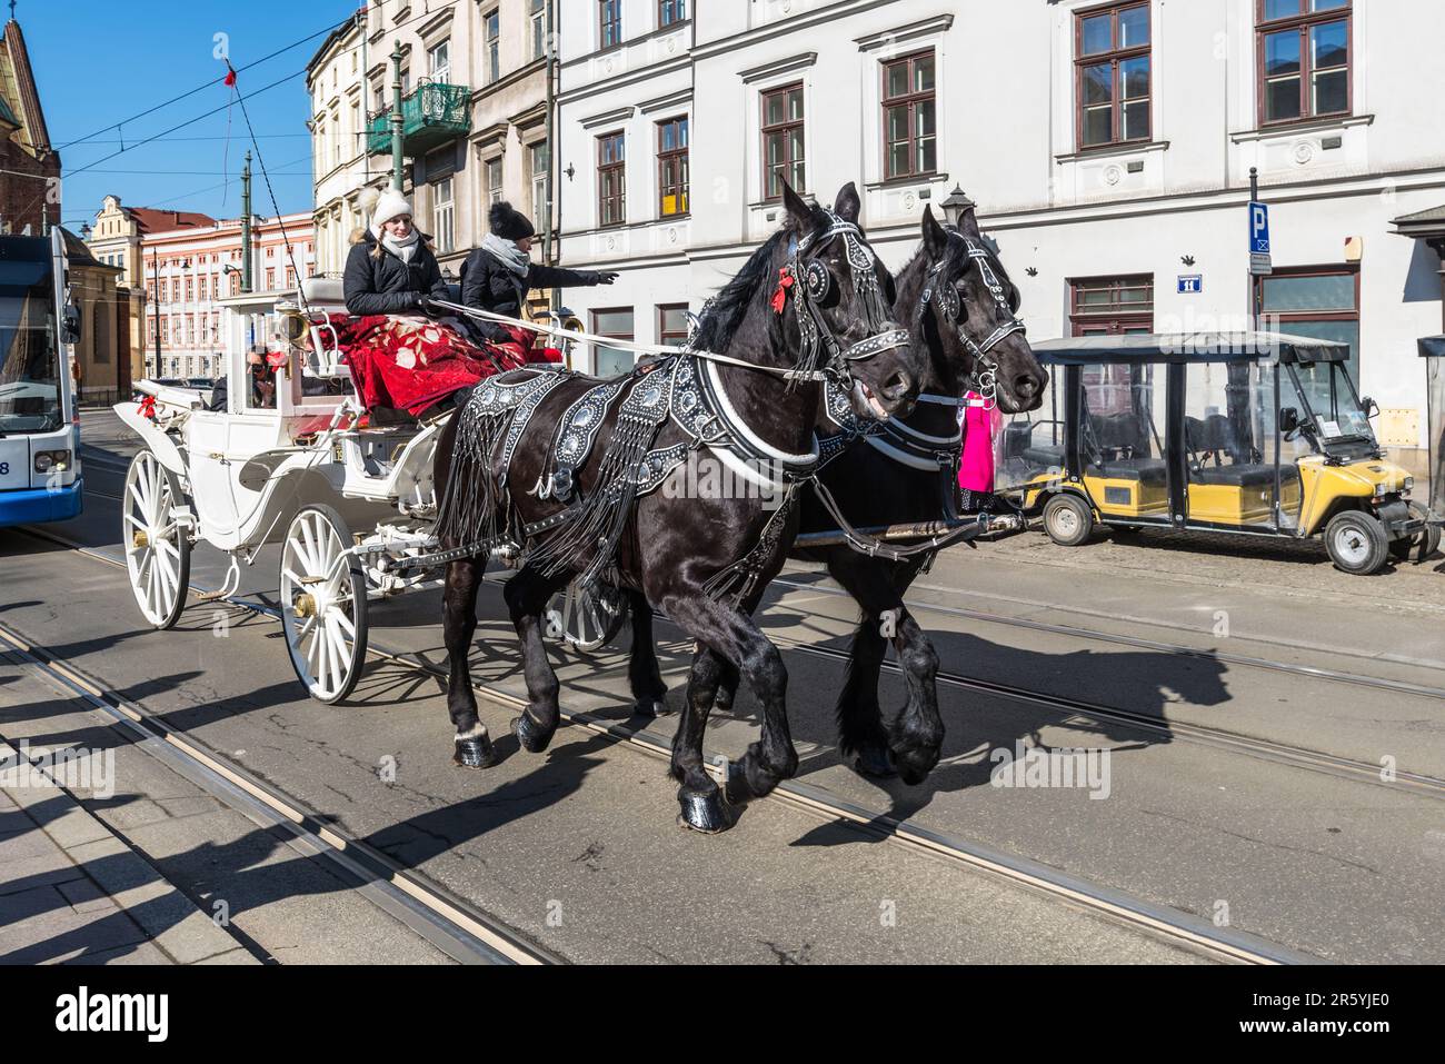
[{"label": "nearest tram track, pair of steel rails running beneath the horses", "polygon": [[[26,532],[36,538],[56,542],[59,545],[69,546],[71,549],[78,549],[87,557],[107,565],[124,565],[124,562],[107,558],[91,548],[68,542],[51,532],[38,529],[26,529]],[[191,584],[189,590],[197,596],[207,594],[205,588],[197,587],[195,584]],[[273,619],[279,617],[279,607],[270,603],[253,601],[240,597],[224,598],[223,601],[233,607],[244,609],[262,616]],[[25,643],[23,635],[13,632],[13,629],[4,623],[0,623],[0,639],[10,642],[19,640],[20,643]],[[45,653],[43,648],[26,648],[26,652],[32,655]],[[444,665],[428,661],[419,653],[389,649],[379,645],[374,639],[367,648],[367,655],[397,668],[428,674],[442,682],[447,678],[447,669]],[[64,664],[52,664],[52,666],[56,665],[62,671],[61,675],[79,677],[75,669],[66,668]],[[91,691],[92,695],[97,690],[103,690],[94,681],[81,679],[81,682],[87,685],[87,690]],[[520,711],[526,705],[525,700],[487,684],[474,682],[473,690],[480,698],[486,700],[493,707],[509,713]],[[435,906],[438,905],[442,906],[442,909],[447,909],[448,906],[460,908],[462,915],[470,921],[480,922],[487,919],[484,914],[467,906],[467,904],[461,899],[448,898],[444,888],[432,885],[425,876],[397,866],[384,854],[376,853],[370,850],[370,847],[364,847],[355,840],[347,838],[334,827],[322,823],[315,812],[302,810],[299,802],[286,798],[280,791],[269,784],[253,779],[249,773],[218,760],[214,755],[205,752],[194,739],[185,734],[178,734],[160,721],[156,721],[155,717],[143,707],[129,704],[127,710],[117,711],[126,718],[139,717],[142,723],[155,723],[156,727],[163,729],[168,743],[189,747],[188,752],[194,752],[201,760],[214,762],[215,768],[224,769],[238,779],[246,779],[249,784],[272,797],[276,802],[273,808],[280,807],[289,810],[290,814],[283,814],[288,815],[288,820],[308,827],[308,830],[312,830],[315,834],[324,831],[325,836],[321,836],[322,840],[329,843],[334,849],[340,844],[341,853],[345,853],[350,849],[364,853],[367,857],[374,856],[374,859],[380,862],[379,867],[384,867],[390,878],[400,880],[399,885],[405,883],[409,893],[412,893],[412,896],[415,896],[420,904],[428,905],[428,908],[432,908],[434,911],[436,911]],[[617,743],[627,745],[646,755],[659,759],[670,756],[670,739],[668,736],[650,733],[644,729],[585,711],[564,708],[561,711],[561,717],[566,724],[584,729]],[[708,755],[708,772],[712,773],[714,778],[721,782],[725,771],[727,758],[724,755]],[[1442,781],[1442,784],[1445,784],[1445,781]],[[798,779],[785,781],[763,801],[785,802],[795,808],[801,808],[822,821],[844,823],[866,834],[931,854],[933,857],[945,859],[951,863],[967,866],[977,872],[1003,879],[1009,883],[1043,893],[1062,904],[1108,917],[1113,921],[1134,927],[1165,941],[1172,941],[1195,954],[1212,960],[1241,964],[1318,963],[1318,958],[1314,956],[1279,945],[1257,935],[1237,931],[1230,927],[1215,927],[1214,922],[1207,918],[1137,898],[1108,885],[1082,879],[1062,869],[990,847],[975,840],[933,830],[906,818],[897,818],[890,814],[867,808],[858,802],[848,801],[824,788]],[[486,927],[486,924],[483,924],[483,927]],[[497,928],[491,928],[491,931],[497,934]],[[533,960],[539,958],[535,957]]]}]

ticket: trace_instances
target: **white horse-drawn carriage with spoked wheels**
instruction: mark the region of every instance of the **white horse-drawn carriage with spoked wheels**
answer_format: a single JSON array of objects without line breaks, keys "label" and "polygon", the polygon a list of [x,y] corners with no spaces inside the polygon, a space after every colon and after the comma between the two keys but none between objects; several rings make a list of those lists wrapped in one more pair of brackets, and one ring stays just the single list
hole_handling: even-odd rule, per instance
[{"label": "white horse-drawn carriage with spoked wheels", "polygon": [[[215,600],[237,591],[241,562],[280,542],[292,666],[314,698],[335,703],[360,678],[368,603],[441,583],[432,457],[448,415],[386,424],[383,412],[367,412],[327,319],[345,312],[338,280],[220,302],[224,398],[146,380],[137,399],[116,405],[146,444],[121,503],[131,588],[146,620],[168,629],[186,604],[194,544],[230,555],[223,587],[204,596]],[[247,353],[256,346],[288,351],[272,396],[253,387]],[[553,630],[581,649],[621,625],[610,588],[568,588],[555,610]]]}]

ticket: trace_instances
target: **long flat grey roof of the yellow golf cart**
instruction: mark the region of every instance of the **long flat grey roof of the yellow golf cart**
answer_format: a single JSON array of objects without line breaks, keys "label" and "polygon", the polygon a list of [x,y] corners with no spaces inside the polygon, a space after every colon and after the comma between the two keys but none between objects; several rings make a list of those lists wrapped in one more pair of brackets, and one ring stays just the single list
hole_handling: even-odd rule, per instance
[{"label": "long flat grey roof of the yellow golf cart", "polygon": [[[1423,343],[1423,341],[1422,341]],[[1350,346],[1289,332],[1127,332],[1029,341],[1039,361],[1084,366],[1120,361],[1345,361]]]}]

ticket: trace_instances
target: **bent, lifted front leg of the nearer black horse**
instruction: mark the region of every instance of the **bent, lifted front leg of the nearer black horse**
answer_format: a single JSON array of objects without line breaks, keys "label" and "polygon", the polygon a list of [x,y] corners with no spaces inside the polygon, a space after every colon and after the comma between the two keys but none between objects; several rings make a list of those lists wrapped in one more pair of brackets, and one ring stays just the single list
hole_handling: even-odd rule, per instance
[{"label": "bent, lifted front leg of the nearer black horse", "polygon": [[[783,655],[743,610],[704,596],[673,596],[665,601],[665,609],[698,643],[734,665],[757,695],[763,707],[763,734],[738,762],[728,766],[724,794],[731,805],[764,797],[798,771],[798,750],[788,729]],[[689,825],[698,827],[691,821]]]}]

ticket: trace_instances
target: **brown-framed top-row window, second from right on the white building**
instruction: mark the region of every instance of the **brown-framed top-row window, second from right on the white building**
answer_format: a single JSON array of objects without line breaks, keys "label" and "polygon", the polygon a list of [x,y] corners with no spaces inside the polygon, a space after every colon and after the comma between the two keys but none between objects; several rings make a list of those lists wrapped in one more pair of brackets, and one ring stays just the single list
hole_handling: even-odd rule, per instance
[{"label": "brown-framed top-row window, second from right on the white building", "polygon": [[1149,140],[1149,4],[1082,12],[1074,43],[1079,147]]}]

